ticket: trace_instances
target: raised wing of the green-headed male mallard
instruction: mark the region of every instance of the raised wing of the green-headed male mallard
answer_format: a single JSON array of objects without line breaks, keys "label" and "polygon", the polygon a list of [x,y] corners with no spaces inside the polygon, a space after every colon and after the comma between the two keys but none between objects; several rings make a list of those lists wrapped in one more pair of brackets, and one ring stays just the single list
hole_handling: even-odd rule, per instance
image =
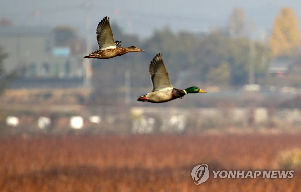
[{"label": "raised wing of the green-headed male mallard", "polygon": [[149,73],[153,83],[153,90],[158,91],[166,87],[172,87],[168,73],[163,63],[162,53],[157,54],[149,66]]}]

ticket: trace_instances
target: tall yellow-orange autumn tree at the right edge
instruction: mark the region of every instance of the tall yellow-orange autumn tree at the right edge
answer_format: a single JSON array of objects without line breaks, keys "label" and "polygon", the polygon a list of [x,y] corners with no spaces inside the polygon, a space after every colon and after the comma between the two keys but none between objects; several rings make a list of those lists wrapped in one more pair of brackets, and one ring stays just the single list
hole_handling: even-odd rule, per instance
[{"label": "tall yellow-orange autumn tree at the right edge", "polygon": [[283,7],[274,20],[270,46],[274,57],[292,57],[299,53],[300,31],[296,14]]}]

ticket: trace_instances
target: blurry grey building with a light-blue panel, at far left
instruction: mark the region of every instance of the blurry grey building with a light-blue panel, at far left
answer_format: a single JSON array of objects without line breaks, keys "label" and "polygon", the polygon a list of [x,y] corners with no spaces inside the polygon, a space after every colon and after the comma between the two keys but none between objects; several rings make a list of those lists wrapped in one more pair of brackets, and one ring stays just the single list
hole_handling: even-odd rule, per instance
[{"label": "blurry grey building with a light-blue panel, at far left", "polygon": [[74,52],[71,44],[57,46],[52,28],[0,26],[0,47],[8,54],[3,61],[8,73],[19,70],[28,78],[83,75],[82,55]]}]

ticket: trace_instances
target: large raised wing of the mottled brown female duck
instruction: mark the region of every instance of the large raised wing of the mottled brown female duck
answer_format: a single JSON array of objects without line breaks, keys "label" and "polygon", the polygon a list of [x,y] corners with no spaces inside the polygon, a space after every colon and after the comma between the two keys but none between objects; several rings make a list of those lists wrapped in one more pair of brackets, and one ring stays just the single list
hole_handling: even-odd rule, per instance
[{"label": "large raised wing of the mottled brown female duck", "polygon": [[101,22],[98,23],[96,34],[99,50],[116,48],[112,29],[110,26],[110,17],[104,17],[104,19],[102,19]]}]

